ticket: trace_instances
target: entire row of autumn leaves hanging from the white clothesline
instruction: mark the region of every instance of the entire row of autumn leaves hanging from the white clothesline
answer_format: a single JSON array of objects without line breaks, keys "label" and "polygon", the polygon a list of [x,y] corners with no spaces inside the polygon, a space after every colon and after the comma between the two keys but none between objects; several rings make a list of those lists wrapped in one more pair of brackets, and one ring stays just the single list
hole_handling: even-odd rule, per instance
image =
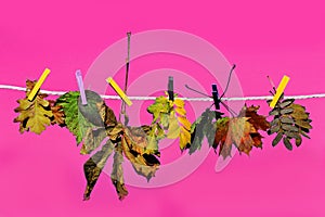
[{"label": "entire row of autumn leaves hanging from the white clothesline", "polygon": [[120,200],[128,195],[123,180],[123,156],[132,164],[136,174],[150,180],[159,168],[160,156],[158,142],[164,138],[179,139],[180,149],[188,149],[188,154],[200,150],[206,138],[209,145],[219,155],[231,156],[233,146],[239,153],[249,155],[252,148],[262,149],[262,135],[276,133],[272,144],[275,146],[283,140],[288,150],[292,150],[290,140],[296,145],[302,142],[301,136],[312,128],[309,113],[294,100],[283,97],[270,112],[273,120],[259,115],[259,106],[244,106],[235,117],[225,117],[223,113],[207,108],[193,124],[186,118],[184,101],[174,95],[171,101],[167,95],[156,98],[147,107],[153,115],[151,125],[140,127],[125,126],[116,119],[102,98],[86,90],[88,104],[82,105],[78,91],[61,95],[56,101],[46,100],[47,94],[38,92],[32,101],[27,98],[36,81],[26,81],[26,98],[17,102],[14,119],[20,123],[20,131],[32,131],[40,135],[47,126],[66,127],[75,137],[77,145],[82,144],[81,154],[90,155],[83,165],[87,188],[84,200],[90,194],[102,174],[107,159],[113,155],[112,183]]}]

